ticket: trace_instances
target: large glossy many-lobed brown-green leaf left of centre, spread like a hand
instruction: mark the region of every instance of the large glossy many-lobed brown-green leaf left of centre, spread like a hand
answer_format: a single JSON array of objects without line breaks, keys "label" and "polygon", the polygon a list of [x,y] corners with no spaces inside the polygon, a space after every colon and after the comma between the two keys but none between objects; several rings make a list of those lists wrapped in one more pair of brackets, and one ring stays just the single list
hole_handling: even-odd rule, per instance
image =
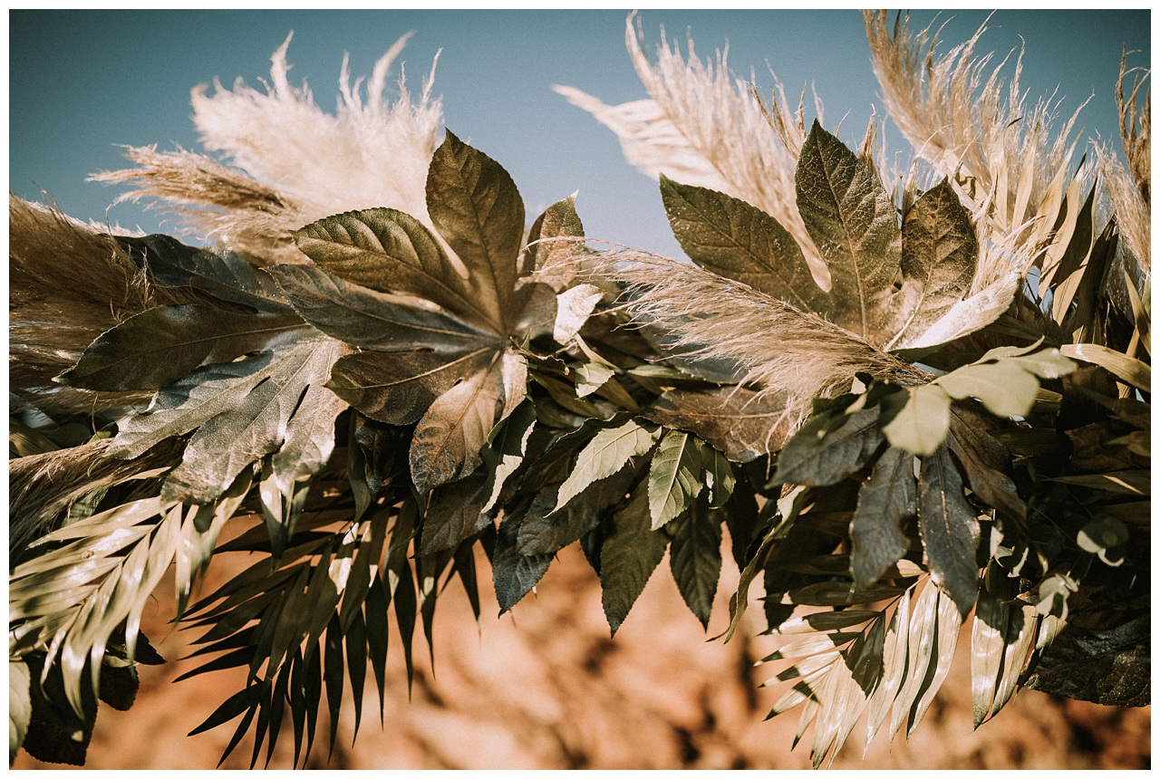
[{"label": "large glossy many-lobed brown-green leaf left of centre, spread like a hand", "polygon": [[517,283],[534,259],[521,254],[523,203],[499,163],[447,133],[427,203],[456,256],[418,220],[372,209],[295,234],[316,267],[271,269],[309,322],[360,350],[334,365],[334,392],[371,418],[416,423],[420,492],[472,473],[524,396],[528,366],[514,344],[557,321],[551,287]]}]

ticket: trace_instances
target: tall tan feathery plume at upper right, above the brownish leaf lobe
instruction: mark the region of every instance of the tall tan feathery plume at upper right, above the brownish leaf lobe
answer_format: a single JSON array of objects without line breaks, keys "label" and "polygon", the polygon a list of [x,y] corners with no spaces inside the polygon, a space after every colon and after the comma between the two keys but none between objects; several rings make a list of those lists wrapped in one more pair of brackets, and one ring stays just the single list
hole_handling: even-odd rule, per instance
[{"label": "tall tan feathery plume at upper right, above the brownish leaf lobe", "polygon": [[[1010,54],[993,70],[992,54],[974,57],[986,24],[967,42],[936,56],[938,30],[933,26],[912,36],[906,16],[891,27],[884,10],[863,14],[890,117],[919,156],[956,182],[974,211],[980,243],[1022,242],[1042,250],[1063,204],[1075,151],[1068,137],[1083,105],[1053,137],[1059,103],[1041,100],[1028,109],[1018,83],[1022,51],[1006,88],[1001,73]],[[1078,175],[1088,184],[1092,168]],[[1002,252],[983,253],[978,269],[973,291],[1025,270]]]}]

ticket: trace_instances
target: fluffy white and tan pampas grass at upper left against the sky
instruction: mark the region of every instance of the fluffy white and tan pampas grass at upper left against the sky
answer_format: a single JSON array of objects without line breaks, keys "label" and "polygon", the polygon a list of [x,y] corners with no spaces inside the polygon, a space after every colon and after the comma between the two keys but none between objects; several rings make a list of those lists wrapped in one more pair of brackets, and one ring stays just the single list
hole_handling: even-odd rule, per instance
[{"label": "fluffy white and tan pampas grass at upper left against the sky", "polygon": [[[274,53],[267,90],[215,81],[193,92],[202,144],[237,169],[183,150],[130,148],[138,167],[94,175],[133,190],[118,199],[151,199],[175,212],[187,232],[218,240],[258,264],[305,262],[290,232],[354,209],[393,208],[427,223],[427,168],[443,122],[432,96],[434,65],[418,99],[386,79],[408,36],[375,65],[369,81],[350,81],[343,60],[336,114],[327,114],[303,85],[290,85],[290,37]],[[364,89],[365,85],[365,89]]]}]

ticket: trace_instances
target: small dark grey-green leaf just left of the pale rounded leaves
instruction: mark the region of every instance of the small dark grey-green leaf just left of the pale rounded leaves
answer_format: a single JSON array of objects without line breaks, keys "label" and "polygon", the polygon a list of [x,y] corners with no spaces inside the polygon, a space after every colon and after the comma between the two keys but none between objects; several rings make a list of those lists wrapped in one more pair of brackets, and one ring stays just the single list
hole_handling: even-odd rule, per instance
[{"label": "small dark grey-green leaf just left of the pale rounded leaves", "polygon": [[850,475],[882,444],[878,408],[814,414],[777,456],[774,482],[825,487]]}]

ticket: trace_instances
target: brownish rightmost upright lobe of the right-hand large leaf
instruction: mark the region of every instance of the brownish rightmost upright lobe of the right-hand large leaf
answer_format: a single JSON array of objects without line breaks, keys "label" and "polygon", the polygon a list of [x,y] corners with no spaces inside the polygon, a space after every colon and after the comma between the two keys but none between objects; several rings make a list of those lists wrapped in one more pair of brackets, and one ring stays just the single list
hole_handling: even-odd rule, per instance
[{"label": "brownish rightmost upright lobe of the right-hand large leaf", "polygon": [[902,321],[886,348],[925,333],[962,300],[978,256],[970,213],[944,179],[902,218]]}]

